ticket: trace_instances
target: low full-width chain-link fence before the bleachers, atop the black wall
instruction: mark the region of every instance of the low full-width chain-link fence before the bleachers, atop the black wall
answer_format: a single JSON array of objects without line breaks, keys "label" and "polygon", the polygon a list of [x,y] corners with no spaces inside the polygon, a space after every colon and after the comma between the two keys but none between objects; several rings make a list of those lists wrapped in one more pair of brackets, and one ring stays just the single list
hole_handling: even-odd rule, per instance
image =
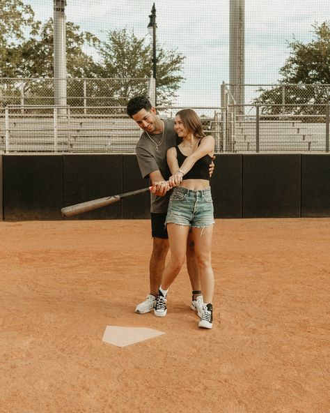
[{"label": "low full-width chain-link fence before the bleachers, atop the black wall", "polygon": [[[317,114],[269,113],[278,105],[193,107],[218,153],[329,152],[329,105]],[[158,107],[174,117],[182,107]],[[282,109],[282,107],[281,107]],[[125,106],[8,105],[0,108],[3,153],[135,153],[141,130]]]}]

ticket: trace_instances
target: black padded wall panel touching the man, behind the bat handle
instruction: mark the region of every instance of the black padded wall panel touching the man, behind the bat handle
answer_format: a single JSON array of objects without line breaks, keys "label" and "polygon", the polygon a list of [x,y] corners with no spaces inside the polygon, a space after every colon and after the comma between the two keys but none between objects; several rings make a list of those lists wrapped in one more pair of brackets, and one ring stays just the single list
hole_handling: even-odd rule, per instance
[{"label": "black padded wall panel touching the man, behind the bat handle", "polygon": [[[149,179],[143,179],[136,155],[123,156],[123,192],[131,192],[149,186]],[[123,218],[150,218],[150,193],[142,193],[123,199]]]}]

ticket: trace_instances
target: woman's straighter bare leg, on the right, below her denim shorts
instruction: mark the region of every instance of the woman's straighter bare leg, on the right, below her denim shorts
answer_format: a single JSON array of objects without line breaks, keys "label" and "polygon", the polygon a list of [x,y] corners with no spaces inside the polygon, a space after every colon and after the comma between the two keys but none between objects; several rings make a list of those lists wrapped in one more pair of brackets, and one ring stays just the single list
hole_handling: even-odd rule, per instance
[{"label": "woman's straighter bare leg, on the right, below her denim shorts", "polygon": [[211,264],[213,225],[203,228],[194,227],[192,233],[204,302],[212,303],[214,293],[214,275]]}]

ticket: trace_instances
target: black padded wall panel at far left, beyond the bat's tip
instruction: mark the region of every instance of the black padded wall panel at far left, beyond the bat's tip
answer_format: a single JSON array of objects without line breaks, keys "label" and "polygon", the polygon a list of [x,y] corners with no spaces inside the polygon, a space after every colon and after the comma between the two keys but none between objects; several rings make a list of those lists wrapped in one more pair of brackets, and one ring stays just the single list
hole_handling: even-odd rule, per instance
[{"label": "black padded wall panel at far left, beyond the bat's tip", "polygon": [[4,155],[3,219],[60,220],[61,155]]}]

